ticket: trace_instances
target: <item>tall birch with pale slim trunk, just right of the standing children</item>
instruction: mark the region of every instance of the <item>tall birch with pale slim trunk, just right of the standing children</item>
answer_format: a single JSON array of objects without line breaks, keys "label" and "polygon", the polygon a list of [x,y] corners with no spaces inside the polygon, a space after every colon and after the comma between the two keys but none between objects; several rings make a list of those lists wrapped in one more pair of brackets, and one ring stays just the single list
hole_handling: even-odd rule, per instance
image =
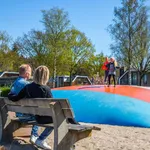
[{"label": "tall birch with pale slim trunk, just right of the standing children", "polygon": [[144,15],[144,0],[122,0],[122,7],[115,8],[113,24],[109,32],[114,39],[111,45],[113,54],[127,66],[129,84],[131,85],[131,66],[134,62],[135,39],[142,28]]}]

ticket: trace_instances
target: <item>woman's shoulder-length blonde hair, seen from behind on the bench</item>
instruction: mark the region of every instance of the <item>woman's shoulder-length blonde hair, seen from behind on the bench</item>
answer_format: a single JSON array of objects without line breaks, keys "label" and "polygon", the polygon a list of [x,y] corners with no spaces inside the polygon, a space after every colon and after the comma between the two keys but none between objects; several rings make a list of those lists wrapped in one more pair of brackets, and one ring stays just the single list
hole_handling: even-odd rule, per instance
[{"label": "woman's shoulder-length blonde hair, seen from behind on the bench", "polygon": [[33,81],[39,85],[46,85],[49,79],[49,69],[46,66],[39,66],[35,69]]}]

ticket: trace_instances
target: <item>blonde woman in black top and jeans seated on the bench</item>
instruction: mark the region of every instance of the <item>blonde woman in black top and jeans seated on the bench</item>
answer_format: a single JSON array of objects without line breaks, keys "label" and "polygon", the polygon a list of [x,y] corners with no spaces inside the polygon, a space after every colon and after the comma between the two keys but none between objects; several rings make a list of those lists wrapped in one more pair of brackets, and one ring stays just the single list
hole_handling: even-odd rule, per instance
[{"label": "blonde woman in black top and jeans seated on the bench", "polygon": [[[39,66],[35,69],[33,82],[26,85],[18,95],[9,94],[8,98],[12,101],[18,101],[22,98],[52,98],[51,89],[46,86],[49,79],[49,69],[46,66]],[[40,124],[52,123],[52,118],[48,116],[33,116],[29,114],[32,120],[36,120]],[[30,119],[31,120],[31,119]],[[37,129],[38,130],[38,129]],[[38,136],[38,131],[32,128],[30,141],[42,149],[50,150],[51,147],[45,142],[45,139],[52,132],[52,127],[47,127]]]}]

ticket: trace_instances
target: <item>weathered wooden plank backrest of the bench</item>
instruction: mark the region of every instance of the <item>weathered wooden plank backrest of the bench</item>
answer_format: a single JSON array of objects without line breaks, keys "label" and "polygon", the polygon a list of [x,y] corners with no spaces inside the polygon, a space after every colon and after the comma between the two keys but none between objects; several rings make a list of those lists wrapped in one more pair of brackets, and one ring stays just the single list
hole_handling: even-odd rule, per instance
[{"label": "weathered wooden plank backrest of the bench", "polygon": [[[2,98],[1,98],[2,99]],[[20,112],[25,114],[33,114],[40,116],[52,116],[50,103],[57,103],[57,112],[64,114],[65,118],[74,118],[73,110],[70,107],[67,99],[52,99],[52,98],[32,98],[21,99],[17,102],[12,102],[8,98],[3,98],[8,111]]]}]

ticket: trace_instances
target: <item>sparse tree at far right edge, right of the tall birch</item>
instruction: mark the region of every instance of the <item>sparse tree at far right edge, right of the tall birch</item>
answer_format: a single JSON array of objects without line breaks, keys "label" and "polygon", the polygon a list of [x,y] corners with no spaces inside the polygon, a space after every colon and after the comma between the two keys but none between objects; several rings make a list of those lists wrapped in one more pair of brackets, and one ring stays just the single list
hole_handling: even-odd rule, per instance
[{"label": "sparse tree at far right edge, right of the tall birch", "polygon": [[138,85],[141,85],[143,76],[150,71],[150,26],[146,10],[144,11],[145,20],[137,34],[132,64],[132,67],[138,72]]}]

